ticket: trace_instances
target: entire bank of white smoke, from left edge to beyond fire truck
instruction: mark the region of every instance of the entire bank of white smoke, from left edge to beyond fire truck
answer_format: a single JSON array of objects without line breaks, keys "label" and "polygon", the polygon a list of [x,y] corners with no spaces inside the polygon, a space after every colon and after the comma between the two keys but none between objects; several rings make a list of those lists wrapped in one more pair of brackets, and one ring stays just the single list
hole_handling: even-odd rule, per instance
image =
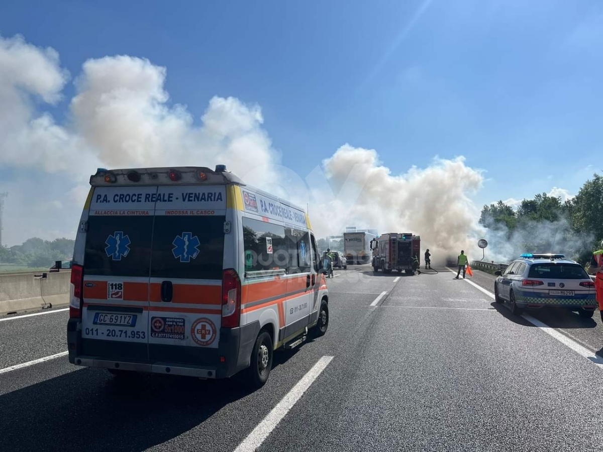
[{"label": "entire bank of white smoke, from left edge to beyond fire truck", "polygon": [[[188,107],[169,101],[166,68],[145,58],[91,59],[76,75],[74,98],[63,99],[70,75],[58,52],[0,37],[0,170],[35,170],[0,181],[0,192],[10,192],[5,242],[73,237],[97,166],[226,163],[249,183],[308,205],[318,237],[356,225],[419,234],[434,263],[461,249],[481,257],[470,196],[483,177],[463,157],[397,175],[373,149],[344,145],[310,175],[297,174],[279,166],[257,105],[213,97],[196,125]],[[69,119],[60,124],[45,110],[62,101]]]}]

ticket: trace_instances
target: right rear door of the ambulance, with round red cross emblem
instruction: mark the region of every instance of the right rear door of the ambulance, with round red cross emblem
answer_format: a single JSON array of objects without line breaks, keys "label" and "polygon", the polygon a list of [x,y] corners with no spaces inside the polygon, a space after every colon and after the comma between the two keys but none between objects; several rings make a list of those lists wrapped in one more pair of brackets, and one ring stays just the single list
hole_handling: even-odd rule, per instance
[{"label": "right rear door of the ambulance, with round red cross emblem", "polygon": [[148,317],[151,362],[218,365],[225,221],[225,185],[159,187]]}]

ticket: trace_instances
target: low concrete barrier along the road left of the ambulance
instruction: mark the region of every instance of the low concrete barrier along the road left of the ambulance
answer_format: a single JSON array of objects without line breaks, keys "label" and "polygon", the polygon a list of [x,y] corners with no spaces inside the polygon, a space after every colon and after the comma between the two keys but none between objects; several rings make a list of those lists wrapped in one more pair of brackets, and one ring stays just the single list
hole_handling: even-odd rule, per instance
[{"label": "low concrete barrier along the road left of the ambulance", "polygon": [[70,280],[71,271],[0,274],[0,315],[67,306]]}]

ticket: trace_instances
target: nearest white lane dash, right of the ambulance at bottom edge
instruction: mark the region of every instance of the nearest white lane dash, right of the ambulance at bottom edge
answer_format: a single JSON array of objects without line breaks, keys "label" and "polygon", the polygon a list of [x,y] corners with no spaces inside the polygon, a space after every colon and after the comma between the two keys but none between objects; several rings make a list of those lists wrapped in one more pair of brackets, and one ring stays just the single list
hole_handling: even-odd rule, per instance
[{"label": "nearest white lane dash, right of the ambulance at bottom edge", "polygon": [[308,388],[314,383],[314,380],[321,374],[327,365],[333,359],[332,356],[323,356],[318,362],[308,371],[306,375],[301,377],[297,385],[293,386],[291,391],[285,394],[279,403],[271,410],[268,415],[262,419],[262,422],[257,424],[251,433],[245,438],[241,444],[235,449],[235,452],[253,452],[256,450],[268,435],[276,428],[280,421],[285,415],[291,410],[291,408],[300,400],[304,392],[308,391]]}]

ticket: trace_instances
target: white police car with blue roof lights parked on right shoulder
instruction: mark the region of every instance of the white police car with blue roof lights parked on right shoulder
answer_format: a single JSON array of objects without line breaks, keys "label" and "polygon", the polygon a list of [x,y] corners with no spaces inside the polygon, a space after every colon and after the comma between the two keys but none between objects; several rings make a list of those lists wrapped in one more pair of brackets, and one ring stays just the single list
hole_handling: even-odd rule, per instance
[{"label": "white police car with blue roof lights parked on right shoulder", "polygon": [[522,254],[495,274],[496,303],[508,301],[516,315],[524,308],[546,306],[578,311],[586,318],[595,313],[595,283],[578,262],[563,254]]}]

